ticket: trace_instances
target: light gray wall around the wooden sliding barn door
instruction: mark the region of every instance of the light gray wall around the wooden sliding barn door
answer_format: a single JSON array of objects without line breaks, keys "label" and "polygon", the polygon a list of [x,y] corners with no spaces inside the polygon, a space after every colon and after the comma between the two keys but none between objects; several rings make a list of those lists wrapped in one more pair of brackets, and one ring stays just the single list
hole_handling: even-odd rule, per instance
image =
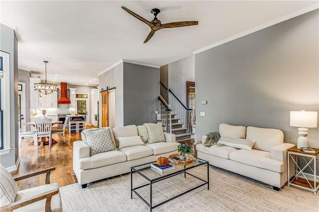
[{"label": "light gray wall around the wooden sliding barn door", "polygon": [[[106,88],[115,89],[115,125],[124,126],[124,97],[123,97],[123,63],[117,65],[111,70],[99,76],[99,90],[106,90]],[[99,104],[100,126],[102,126],[102,105]]]}]

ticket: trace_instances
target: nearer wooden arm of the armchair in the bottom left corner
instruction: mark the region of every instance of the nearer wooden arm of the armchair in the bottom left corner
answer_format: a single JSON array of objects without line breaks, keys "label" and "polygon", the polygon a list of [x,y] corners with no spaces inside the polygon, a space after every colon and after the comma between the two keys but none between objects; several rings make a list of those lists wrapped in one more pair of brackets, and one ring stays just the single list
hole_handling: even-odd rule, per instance
[{"label": "nearer wooden arm of the armchair in the bottom left corner", "polygon": [[38,194],[36,196],[31,196],[25,200],[16,201],[14,203],[8,204],[6,206],[1,206],[0,211],[1,212],[11,212],[15,209],[27,206],[29,204],[38,202],[40,200],[46,199],[45,202],[45,212],[51,212],[51,199],[52,196],[59,193],[59,189],[52,189],[50,191],[43,192],[41,194]]}]

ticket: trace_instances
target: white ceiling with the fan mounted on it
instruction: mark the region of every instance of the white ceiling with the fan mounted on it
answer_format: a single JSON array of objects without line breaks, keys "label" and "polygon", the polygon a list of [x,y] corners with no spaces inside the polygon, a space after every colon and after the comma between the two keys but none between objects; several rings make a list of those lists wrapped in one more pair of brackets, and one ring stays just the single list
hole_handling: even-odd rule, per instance
[{"label": "white ceiling with the fan mounted on it", "polygon": [[[121,59],[165,65],[318,2],[0,1],[0,22],[18,29],[19,69],[44,80],[47,60],[48,81],[98,85],[98,74]],[[160,8],[162,23],[199,23],[162,29],[143,43],[150,27],[121,6],[150,21]]]}]

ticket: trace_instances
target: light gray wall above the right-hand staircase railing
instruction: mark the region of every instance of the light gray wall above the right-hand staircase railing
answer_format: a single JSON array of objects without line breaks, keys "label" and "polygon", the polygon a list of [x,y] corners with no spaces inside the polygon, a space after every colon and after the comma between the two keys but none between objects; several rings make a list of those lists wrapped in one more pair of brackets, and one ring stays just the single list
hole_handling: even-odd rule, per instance
[{"label": "light gray wall above the right-hand staircase railing", "polygon": [[168,88],[186,105],[186,81],[195,82],[195,55],[168,64]]}]

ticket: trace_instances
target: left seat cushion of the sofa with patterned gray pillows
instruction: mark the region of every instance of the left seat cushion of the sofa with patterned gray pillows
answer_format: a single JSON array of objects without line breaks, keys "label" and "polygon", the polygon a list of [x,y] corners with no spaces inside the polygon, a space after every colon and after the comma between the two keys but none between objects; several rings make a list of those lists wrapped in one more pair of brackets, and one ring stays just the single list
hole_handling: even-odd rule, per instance
[{"label": "left seat cushion of the sofa with patterned gray pillows", "polygon": [[80,169],[94,169],[126,161],[126,154],[119,150],[102,152],[92,155],[92,157],[79,160]]}]

